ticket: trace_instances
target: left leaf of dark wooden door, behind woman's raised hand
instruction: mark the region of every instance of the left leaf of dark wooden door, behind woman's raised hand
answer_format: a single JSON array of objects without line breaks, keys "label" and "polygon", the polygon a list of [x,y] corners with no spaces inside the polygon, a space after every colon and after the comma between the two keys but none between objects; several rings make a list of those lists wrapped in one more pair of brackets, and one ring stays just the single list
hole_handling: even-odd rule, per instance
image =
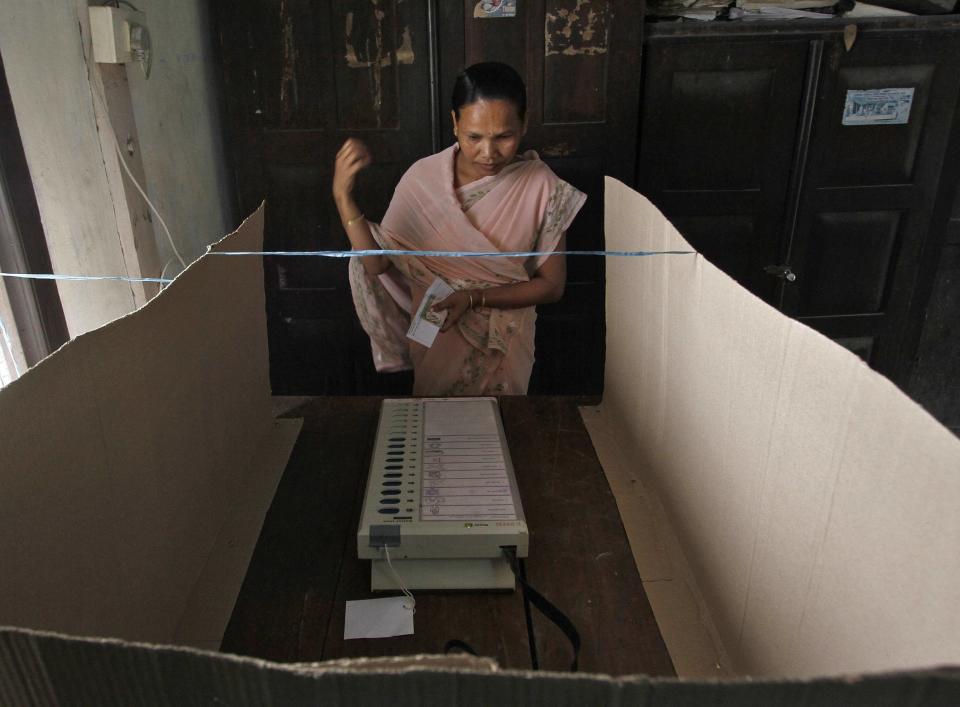
[{"label": "left leaf of dark wooden door, behind woman's raised hand", "polygon": [[[348,137],[375,164],[358,202],[379,220],[404,170],[432,150],[425,0],[218,0],[215,23],[239,209],[267,200],[266,250],[350,245],[330,194]],[[353,312],[347,261],[267,258],[276,394],[390,392]]]}]

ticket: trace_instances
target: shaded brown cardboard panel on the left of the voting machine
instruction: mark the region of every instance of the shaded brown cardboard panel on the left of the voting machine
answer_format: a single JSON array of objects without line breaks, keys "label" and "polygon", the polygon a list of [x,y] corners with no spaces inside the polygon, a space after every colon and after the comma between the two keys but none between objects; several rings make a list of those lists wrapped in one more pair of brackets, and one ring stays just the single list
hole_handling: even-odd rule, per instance
[{"label": "shaded brown cardboard panel on the left of the voting machine", "polygon": [[274,429],[262,272],[207,255],[0,390],[0,623],[173,639]]}]

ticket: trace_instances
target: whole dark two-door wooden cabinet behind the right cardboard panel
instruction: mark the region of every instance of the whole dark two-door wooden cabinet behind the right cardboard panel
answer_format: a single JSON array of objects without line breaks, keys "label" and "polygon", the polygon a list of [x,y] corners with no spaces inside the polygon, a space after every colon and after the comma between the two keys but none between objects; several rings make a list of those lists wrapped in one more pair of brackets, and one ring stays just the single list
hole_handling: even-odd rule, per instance
[{"label": "whole dark two-door wooden cabinet behind the right cardboard panel", "polygon": [[[848,50],[845,24],[651,25],[637,182],[744,286],[903,382],[960,170],[960,25],[864,22]],[[884,88],[912,92],[905,121],[844,124]]]}]

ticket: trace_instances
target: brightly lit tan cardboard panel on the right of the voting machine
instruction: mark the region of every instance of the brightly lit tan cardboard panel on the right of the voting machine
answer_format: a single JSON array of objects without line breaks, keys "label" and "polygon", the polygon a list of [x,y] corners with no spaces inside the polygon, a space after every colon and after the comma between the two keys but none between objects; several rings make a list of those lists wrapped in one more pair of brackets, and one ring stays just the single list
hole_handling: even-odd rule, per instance
[{"label": "brightly lit tan cardboard panel on the right of the voting machine", "polygon": [[[608,248],[692,250],[639,194],[609,179],[606,194]],[[700,255],[607,273],[602,408],[733,667],[960,661],[960,440]]]}]

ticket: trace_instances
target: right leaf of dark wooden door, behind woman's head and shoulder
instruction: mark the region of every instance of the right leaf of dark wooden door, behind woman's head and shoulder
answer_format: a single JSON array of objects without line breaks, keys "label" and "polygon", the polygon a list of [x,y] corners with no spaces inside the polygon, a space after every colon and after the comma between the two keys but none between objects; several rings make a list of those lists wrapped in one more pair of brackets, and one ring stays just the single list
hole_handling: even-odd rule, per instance
[{"label": "right leaf of dark wooden door, behind woman's head and shoulder", "polygon": [[[587,194],[567,247],[602,250],[603,176],[633,184],[643,3],[518,0],[512,18],[484,18],[480,5],[438,5],[441,145],[452,141],[457,73],[479,61],[512,65],[527,84],[524,147]],[[531,393],[597,394],[603,387],[604,261],[571,257],[567,269],[563,299],[537,308]]]}]

